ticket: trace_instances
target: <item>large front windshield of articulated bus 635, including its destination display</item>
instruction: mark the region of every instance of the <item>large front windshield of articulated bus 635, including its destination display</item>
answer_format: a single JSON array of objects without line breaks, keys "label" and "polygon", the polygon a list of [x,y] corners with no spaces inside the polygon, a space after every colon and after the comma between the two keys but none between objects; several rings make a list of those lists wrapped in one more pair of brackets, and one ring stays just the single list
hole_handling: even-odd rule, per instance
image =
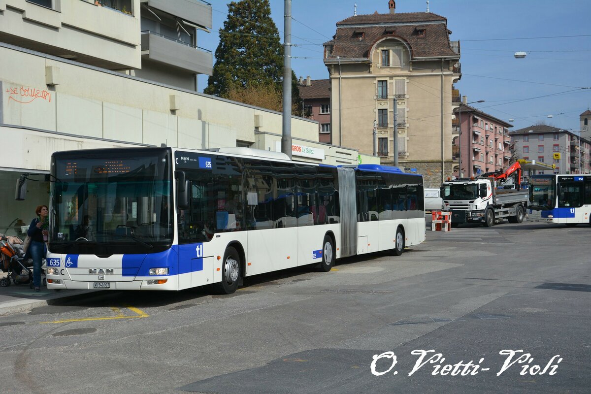
[{"label": "large front windshield of articulated bus 635, including its destination display", "polygon": [[53,161],[51,252],[100,256],[172,245],[170,152],[61,152]]}]

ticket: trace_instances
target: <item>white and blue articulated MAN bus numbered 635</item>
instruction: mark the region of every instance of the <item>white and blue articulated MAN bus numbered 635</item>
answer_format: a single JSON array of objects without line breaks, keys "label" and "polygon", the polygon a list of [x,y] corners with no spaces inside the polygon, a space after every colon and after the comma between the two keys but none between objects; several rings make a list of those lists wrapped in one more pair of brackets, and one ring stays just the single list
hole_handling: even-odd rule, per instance
[{"label": "white and blue articulated MAN bus numbered 635", "polygon": [[50,289],[236,290],[246,276],[425,239],[423,177],[250,148],[51,157]]}]

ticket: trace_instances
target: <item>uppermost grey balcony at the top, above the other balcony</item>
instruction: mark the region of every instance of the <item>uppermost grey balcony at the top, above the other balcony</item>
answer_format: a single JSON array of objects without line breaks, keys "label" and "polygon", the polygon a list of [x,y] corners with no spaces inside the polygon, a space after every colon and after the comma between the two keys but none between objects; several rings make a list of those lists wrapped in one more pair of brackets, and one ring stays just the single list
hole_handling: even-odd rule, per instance
[{"label": "uppermost grey balcony at the top, above the other balcony", "polygon": [[[139,0],[141,4],[147,4],[150,8],[159,9],[167,14],[174,15],[187,25],[203,30],[212,28],[212,5],[200,0]],[[196,26],[193,26],[196,25]]]}]

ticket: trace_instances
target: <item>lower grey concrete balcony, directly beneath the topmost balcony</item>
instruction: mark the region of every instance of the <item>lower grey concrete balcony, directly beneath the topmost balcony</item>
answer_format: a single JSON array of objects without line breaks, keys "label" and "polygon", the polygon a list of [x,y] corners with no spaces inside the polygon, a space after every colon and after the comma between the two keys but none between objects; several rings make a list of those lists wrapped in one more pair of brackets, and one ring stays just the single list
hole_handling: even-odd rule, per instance
[{"label": "lower grey concrete balcony, directly beneath the topmost balcony", "polygon": [[142,58],[148,57],[194,74],[211,75],[213,72],[211,51],[153,31],[142,31],[141,44]]}]

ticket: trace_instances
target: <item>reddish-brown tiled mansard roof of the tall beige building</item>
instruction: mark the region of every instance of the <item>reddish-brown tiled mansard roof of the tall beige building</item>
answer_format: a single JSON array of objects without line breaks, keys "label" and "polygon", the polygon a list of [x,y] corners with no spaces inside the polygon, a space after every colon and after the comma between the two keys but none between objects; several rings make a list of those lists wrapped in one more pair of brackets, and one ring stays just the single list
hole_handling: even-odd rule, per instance
[{"label": "reddish-brown tiled mansard roof of the tall beige building", "polygon": [[[430,12],[358,15],[336,25],[330,58],[368,58],[372,45],[382,37],[396,37],[408,43],[412,58],[459,57],[450,47],[447,19]],[[425,30],[424,35],[418,35],[417,28]],[[354,34],[359,32],[363,32],[361,39]]]}]

